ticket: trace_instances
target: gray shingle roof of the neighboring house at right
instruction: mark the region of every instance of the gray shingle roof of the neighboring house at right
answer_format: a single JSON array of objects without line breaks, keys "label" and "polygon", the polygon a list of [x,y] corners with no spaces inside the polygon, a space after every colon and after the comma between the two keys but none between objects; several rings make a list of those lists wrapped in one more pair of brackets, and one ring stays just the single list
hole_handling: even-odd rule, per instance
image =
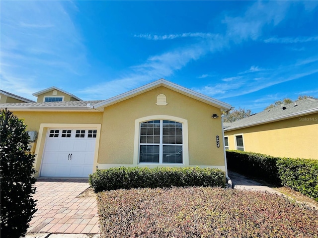
[{"label": "gray shingle roof of the neighboring house at right", "polygon": [[[285,109],[283,110],[282,107],[285,107]],[[234,130],[242,127],[249,127],[257,124],[264,124],[271,121],[289,119],[317,112],[318,99],[307,98],[290,104],[281,104],[269,110],[264,110],[263,112],[253,114],[247,118],[231,122],[229,127],[224,126],[224,130]]]}]

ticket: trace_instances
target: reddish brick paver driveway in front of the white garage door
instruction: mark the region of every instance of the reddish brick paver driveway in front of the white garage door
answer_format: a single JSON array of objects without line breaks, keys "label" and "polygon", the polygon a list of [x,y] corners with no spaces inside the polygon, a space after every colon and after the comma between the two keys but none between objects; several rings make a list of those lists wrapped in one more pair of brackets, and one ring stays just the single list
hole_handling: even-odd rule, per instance
[{"label": "reddish brick paver driveway in front of the white garage door", "polygon": [[99,233],[95,198],[77,198],[89,187],[87,179],[38,178],[33,195],[37,212],[28,233]]}]

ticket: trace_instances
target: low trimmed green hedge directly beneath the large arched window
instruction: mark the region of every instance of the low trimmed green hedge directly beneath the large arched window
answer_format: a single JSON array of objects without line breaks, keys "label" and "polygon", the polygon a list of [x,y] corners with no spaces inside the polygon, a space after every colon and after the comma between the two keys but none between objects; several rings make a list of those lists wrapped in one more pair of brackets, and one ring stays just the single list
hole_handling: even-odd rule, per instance
[{"label": "low trimmed green hedge directly beneath the large arched window", "polygon": [[89,175],[95,192],[139,187],[224,186],[224,172],[199,167],[120,167],[97,170]]}]

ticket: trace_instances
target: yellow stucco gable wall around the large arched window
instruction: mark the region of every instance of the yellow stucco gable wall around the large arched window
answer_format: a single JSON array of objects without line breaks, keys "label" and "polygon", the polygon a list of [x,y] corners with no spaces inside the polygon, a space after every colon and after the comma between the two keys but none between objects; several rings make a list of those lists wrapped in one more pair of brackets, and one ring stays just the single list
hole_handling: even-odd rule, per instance
[{"label": "yellow stucco gable wall around the large arched window", "polygon": [[[156,105],[159,94],[166,96],[166,106]],[[221,119],[212,119],[212,114],[220,116],[220,109],[165,87],[109,106],[104,109],[99,163],[133,164],[135,120],[169,115],[188,120],[189,165],[224,166]]]}]

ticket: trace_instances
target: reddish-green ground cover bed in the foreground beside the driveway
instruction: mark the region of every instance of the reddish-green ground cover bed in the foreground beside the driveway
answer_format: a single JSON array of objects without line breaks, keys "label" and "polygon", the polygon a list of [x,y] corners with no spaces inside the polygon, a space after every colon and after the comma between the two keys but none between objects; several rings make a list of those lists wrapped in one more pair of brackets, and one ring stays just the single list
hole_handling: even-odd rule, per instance
[{"label": "reddish-green ground cover bed in the foreground beside the driveway", "polygon": [[101,238],[318,237],[318,211],[277,194],[211,187],[97,196]]}]

